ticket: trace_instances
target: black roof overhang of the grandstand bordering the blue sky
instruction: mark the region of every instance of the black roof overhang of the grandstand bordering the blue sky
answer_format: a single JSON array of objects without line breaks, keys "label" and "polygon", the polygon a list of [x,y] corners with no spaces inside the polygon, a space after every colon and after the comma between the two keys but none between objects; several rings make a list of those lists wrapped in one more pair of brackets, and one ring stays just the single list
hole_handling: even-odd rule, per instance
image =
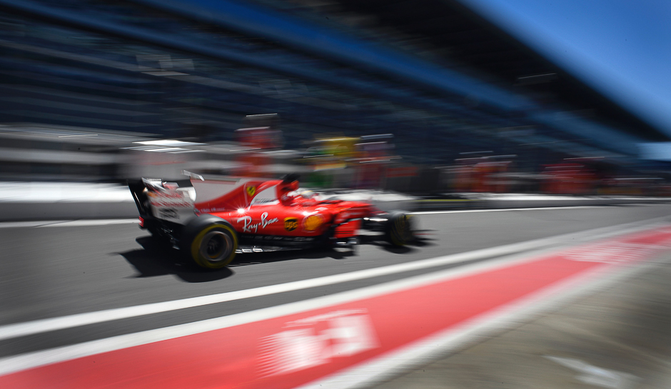
[{"label": "black roof overhang of the grandstand bordering the blue sky", "polygon": [[555,63],[510,36],[457,0],[258,0],[296,14],[370,31],[427,61],[503,87],[513,87],[544,105],[572,110],[650,140],[667,135],[643,122]]}]

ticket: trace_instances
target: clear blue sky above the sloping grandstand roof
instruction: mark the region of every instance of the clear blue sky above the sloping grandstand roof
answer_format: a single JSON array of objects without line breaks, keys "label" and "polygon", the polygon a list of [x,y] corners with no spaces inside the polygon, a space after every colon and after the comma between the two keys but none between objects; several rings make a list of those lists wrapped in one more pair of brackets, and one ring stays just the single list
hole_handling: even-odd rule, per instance
[{"label": "clear blue sky above the sloping grandstand roof", "polygon": [[671,137],[671,1],[461,1]]}]

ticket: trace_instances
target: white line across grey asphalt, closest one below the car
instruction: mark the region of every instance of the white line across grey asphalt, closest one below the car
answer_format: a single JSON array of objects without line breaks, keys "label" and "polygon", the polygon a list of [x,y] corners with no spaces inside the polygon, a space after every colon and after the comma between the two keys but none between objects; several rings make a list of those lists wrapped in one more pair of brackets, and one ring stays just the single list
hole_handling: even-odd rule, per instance
[{"label": "white line across grey asphalt, closest one below the car", "polygon": [[642,222],[621,224],[619,226],[614,227],[602,227],[587,231],[573,232],[570,234],[564,234],[555,237],[534,239],[527,242],[505,244],[503,246],[491,247],[489,249],[480,249],[460,254],[439,256],[430,259],[412,261],[404,264],[380,266],[372,269],[364,269],[359,271],[350,271],[348,273],[343,274],[335,274],[333,276],[323,276],[315,279],[292,281],[287,282],[285,284],[261,286],[258,288],[244,289],[241,291],[231,291],[221,294],[211,294],[208,296],[191,297],[189,299],[163,301],[160,303],[142,304],[137,306],[128,306],[124,308],[112,308],[112,309],[106,309],[104,311],[77,313],[69,316],[44,318],[35,321],[26,321],[23,323],[7,324],[4,326],[0,326],[0,340],[17,338],[19,336],[32,335],[35,333],[56,331],[65,328],[86,326],[94,323],[104,323],[106,321],[119,320],[123,318],[146,316],[151,315],[153,313],[176,311],[178,309],[193,308],[196,306],[206,306],[210,304],[223,303],[226,301],[251,299],[253,297],[268,296],[271,294],[280,294],[288,291],[310,289],[319,286],[340,284],[343,282],[356,281],[360,279],[370,279],[378,276],[403,273],[405,271],[430,269],[431,267],[444,266],[448,264],[457,264],[463,261],[473,261],[476,259],[485,259],[494,256],[514,254],[519,253],[520,251],[539,249],[541,247],[548,247],[550,245],[577,244],[580,242],[587,242],[588,240],[602,239],[605,237],[610,237],[612,235],[625,234],[627,232],[634,232],[640,229],[652,228],[654,226],[654,224],[652,223],[660,221],[662,219],[666,219],[666,217],[658,217],[655,219],[649,219]]}]

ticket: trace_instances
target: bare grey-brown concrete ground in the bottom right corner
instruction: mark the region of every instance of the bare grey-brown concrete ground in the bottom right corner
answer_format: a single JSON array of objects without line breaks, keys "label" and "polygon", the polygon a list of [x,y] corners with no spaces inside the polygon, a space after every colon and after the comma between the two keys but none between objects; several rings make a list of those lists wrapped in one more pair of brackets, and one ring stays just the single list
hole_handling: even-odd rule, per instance
[{"label": "bare grey-brown concrete ground in the bottom right corner", "polygon": [[671,387],[671,255],[375,389]]}]

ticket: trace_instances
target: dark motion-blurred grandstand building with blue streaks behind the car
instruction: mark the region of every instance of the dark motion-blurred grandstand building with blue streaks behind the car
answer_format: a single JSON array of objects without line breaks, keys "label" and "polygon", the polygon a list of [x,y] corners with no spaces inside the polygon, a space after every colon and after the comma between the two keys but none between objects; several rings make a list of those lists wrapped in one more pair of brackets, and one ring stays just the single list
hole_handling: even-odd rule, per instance
[{"label": "dark motion-blurred grandstand building with blue streaks behind the car", "polygon": [[289,147],[392,133],[420,162],[665,139],[453,1],[0,0],[0,22],[4,123],[207,141],[279,113]]}]

